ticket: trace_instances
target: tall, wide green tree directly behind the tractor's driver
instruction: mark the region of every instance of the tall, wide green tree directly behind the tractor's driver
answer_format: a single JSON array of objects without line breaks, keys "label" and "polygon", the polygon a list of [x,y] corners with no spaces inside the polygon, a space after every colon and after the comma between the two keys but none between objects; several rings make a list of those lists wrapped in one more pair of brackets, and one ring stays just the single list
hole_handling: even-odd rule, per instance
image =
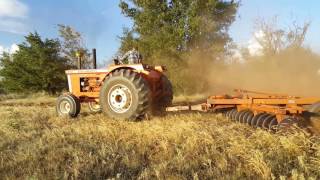
[{"label": "tall, wide green tree directly behind the tractor's driver", "polygon": [[[185,78],[188,57],[199,52],[205,61],[225,53],[231,41],[228,28],[235,20],[238,3],[221,0],[122,0],[122,13],[134,22],[125,29],[120,52],[137,46],[144,62],[168,66],[176,92],[194,93],[195,81]],[[202,59],[199,59],[202,61]],[[170,69],[177,67],[178,69]],[[173,78],[173,75],[178,78]]]}]

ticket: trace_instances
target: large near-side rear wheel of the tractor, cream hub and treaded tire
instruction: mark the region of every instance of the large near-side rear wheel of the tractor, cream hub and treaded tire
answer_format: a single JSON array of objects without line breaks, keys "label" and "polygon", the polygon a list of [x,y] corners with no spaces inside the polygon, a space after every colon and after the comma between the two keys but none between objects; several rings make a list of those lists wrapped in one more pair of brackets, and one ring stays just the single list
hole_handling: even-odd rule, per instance
[{"label": "large near-side rear wheel of the tractor, cream hub and treaded tire", "polygon": [[130,69],[110,74],[100,90],[102,112],[113,119],[139,120],[150,105],[150,89],[145,79]]}]

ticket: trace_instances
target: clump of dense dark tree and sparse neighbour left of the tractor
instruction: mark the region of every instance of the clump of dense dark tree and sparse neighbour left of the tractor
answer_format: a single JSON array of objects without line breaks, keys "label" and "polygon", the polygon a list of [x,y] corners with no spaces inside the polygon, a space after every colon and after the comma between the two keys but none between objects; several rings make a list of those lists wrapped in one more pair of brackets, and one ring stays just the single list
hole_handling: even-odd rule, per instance
[{"label": "clump of dense dark tree and sparse neighbour left of the tractor", "polygon": [[67,85],[65,70],[76,68],[77,51],[84,53],[84,66],[90,67],[81,34],[70,26],[58,27],[59,38],[30,33],[17,52],[0,56],[0,93],[60,92]]}]

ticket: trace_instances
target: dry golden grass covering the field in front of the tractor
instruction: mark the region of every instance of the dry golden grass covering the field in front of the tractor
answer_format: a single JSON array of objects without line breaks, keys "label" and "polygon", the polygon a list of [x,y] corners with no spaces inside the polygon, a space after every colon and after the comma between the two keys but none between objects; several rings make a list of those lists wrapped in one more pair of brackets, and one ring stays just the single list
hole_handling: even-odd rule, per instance
[{"label": "dry golden grass covering the field in front of the tractor", "polygon": [[70,121],[52,106],[0,105],[0,137],[0,179],[320,178],[319,137],[214,114],[126,122],[84,108]]}]

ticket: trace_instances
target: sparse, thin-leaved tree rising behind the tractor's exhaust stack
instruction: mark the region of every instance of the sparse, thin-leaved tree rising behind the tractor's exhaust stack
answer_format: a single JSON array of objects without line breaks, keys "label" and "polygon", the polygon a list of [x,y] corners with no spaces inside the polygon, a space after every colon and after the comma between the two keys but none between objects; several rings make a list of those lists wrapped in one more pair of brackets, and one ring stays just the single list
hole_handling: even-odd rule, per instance
[{"label": "sparse, thin-leaved tree rising behind the tractor's exhaust stack", "polygon": [[77,67],[78,58],[76,53],[81,51],[83,53],[83,68],[90,68],[92,64],[90,63],[90,53],[85,46],[82,35],[71,26],[59,24],[58,28],[62,42],[61,52],[69,60],[69,64]]}]

